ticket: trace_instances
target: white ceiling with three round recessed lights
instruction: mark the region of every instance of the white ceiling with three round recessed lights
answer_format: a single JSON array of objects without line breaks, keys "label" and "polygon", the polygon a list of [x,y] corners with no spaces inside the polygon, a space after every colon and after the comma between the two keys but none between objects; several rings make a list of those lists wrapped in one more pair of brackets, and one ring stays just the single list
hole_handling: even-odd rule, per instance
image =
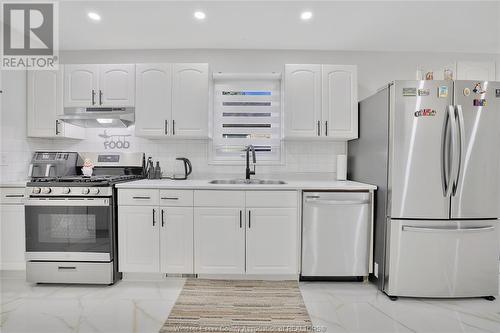
[{"label": "white ceiling with three round recessed lights", "polygon": [[[203,22],[196,10],[206,13]],[[313,12],[309,22],[299,19],[304,10]],[[500,53],[498,1],[67,1],[59,11],[63,50]]]}]

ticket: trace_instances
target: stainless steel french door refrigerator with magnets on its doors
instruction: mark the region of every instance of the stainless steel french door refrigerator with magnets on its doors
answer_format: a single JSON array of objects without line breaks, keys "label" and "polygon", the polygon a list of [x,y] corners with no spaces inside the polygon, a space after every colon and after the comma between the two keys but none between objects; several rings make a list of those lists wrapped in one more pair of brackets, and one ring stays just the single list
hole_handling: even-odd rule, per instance
[{"label": "stainless steel french door refrigerator with magnets on its doors", "polygon": [[359,112],[349,177],[378,186],[379,289],[497,295],[500,82],[394,81]]}]

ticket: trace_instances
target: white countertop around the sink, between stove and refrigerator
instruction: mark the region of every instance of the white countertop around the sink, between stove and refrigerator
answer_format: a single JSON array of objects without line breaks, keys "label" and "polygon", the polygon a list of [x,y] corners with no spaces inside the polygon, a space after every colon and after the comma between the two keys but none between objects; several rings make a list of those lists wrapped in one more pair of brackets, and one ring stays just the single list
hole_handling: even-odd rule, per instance
[{"label": "white countertop around the sink, between stove and refrigerator", "polygon": [[335,180],[285,180],[286,184],[210,184],[210,179],[141,179],[117,184],[117,188],[194,189],[194,190],[376,190],[370,184]]}]

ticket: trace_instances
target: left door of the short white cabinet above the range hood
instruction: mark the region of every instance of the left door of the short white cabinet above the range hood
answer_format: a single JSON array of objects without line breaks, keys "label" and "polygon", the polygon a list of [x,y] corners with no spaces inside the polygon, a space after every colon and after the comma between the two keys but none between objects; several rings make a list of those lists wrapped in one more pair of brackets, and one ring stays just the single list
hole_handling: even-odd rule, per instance
[{"label": "left door of the short white cabinet above the range hood", "polygon": [[99,106],[99,65],[64,66],[64,107]]}]

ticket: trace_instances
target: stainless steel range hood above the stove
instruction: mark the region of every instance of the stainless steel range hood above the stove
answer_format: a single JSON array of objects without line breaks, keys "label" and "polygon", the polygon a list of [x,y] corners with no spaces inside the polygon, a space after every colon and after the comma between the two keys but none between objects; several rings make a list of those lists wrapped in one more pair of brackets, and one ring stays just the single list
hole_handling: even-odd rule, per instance
[{"label": "stainless steel range hood above the stove", "polygon": [[86,128],[126,128],[134,124],[134,108],[71,108],[59,119]]}]

